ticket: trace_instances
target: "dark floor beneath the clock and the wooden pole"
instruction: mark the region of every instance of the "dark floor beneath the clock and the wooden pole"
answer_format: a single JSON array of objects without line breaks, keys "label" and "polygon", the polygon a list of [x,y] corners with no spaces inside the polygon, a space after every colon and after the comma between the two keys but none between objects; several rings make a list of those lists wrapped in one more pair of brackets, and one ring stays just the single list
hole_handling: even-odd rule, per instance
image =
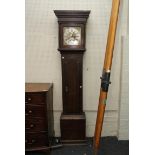
[{"label": "dark floor beneath the clock and the wooden pole", "polygon": [[[63,146],[52,150],[50,155],[93,155],[93,140],[87,139],[87,145]],[[45,155],[47,153],[32,152],[25,155]],[[104,137],[101,139],[99,155],[129,155],[129,141],[118,141],[116,137]]]}]

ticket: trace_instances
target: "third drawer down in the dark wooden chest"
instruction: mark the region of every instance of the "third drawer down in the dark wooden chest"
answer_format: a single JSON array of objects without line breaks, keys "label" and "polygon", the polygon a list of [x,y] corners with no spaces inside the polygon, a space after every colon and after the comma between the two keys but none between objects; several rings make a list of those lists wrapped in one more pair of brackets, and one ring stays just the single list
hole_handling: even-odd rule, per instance
[{"label": "third drawer down in the dark wooden chest", "polygon": [[47,120],[39,118],[29,118],[25,120],[26,132],[47,131]]}]

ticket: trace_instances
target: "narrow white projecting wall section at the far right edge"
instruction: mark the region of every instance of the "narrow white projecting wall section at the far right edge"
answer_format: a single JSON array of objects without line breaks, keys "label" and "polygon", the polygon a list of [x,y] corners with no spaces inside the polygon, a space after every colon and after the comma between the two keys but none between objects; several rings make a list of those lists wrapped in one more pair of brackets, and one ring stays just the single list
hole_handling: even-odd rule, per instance
[{"label": "narrow white projecting wall section at the far right edge", "polygon": [[120,105],[118,119],[118,137],[129,139],[129,30],[128,30],[128,0],[122,1],[121,15],[121,77]]}]

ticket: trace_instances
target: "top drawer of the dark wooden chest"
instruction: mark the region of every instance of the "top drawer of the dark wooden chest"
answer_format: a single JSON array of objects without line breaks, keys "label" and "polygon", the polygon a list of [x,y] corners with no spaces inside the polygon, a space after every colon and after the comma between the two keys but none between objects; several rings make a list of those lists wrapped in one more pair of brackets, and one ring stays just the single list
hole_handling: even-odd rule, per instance
[{"label": "top drawer of the dark wooden chest", "polygon": [[26,104],[45,104],[46,103],[46,93],[45,92],[25,93],[25,103]]}]

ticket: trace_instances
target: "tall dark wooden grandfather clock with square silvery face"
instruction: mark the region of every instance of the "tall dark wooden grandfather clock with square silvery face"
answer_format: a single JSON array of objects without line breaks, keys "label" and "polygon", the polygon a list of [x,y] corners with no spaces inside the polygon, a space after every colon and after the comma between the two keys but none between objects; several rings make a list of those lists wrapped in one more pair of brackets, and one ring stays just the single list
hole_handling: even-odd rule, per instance
[{"label": "tall dark wooden grandfather clock with square silvery face", "polygon": [[63,112],[60,117],[62,143],[86,142],[86,117],[83,112],[82,68],[86,51],[86,22],[90,11],[54,10],[59,24],[62,65]]}]

